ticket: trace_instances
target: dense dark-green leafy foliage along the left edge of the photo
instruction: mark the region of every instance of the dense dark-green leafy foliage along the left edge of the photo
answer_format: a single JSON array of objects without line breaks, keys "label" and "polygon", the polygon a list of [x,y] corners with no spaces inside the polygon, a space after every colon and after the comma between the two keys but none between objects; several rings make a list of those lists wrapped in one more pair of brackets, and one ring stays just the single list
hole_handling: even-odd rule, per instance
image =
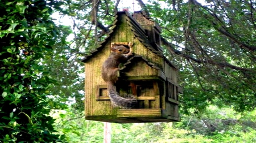
[{"label": "dense dark-green leafy foliage along the left edge of the photo", "polygon": [[52,54],[55,1],[0,2],[0,142],[62,142],[49,116],[48,76],[42,61]]}]

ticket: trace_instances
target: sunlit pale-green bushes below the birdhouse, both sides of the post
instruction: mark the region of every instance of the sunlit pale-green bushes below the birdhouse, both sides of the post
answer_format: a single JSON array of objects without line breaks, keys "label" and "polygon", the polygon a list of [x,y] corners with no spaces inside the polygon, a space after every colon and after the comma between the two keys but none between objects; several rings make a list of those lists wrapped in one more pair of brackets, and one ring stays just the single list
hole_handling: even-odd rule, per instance
[{"label": "sunlit pale-green bushes below the birdhouse, both sides of the post", "polygon": [[[255,111],[237,114],[209,106],[200,116],[181,115],[177,123],[112,123],[112,142],[255,142],[255,115]],[[72,110],[60,116],[55,116],[56,129],[65,133],[68,142],[103,142],[104,123],[84,120]]]}]

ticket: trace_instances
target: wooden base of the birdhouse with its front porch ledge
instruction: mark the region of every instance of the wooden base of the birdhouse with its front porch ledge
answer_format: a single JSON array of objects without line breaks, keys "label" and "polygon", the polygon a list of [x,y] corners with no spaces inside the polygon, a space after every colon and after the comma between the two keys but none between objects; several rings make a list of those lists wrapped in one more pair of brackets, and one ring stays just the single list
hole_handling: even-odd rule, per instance
[{"label": "wooden base of the birdhouse with its front porch ledge", "polygon": [[179,122],[175,116],[163,116],[162,109],[119,109],[117,115],[85,116],[86,120],[96,120],[111,123],[152,123]]}]

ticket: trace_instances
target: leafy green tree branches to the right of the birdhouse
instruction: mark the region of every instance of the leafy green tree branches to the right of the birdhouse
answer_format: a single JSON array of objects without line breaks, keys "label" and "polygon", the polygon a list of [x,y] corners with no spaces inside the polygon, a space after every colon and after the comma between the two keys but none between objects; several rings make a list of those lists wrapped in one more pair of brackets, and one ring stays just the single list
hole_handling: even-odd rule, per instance
[{"label": "leafy green tree branches to the right of the birdhouse", "polygon": [[180,67],[185,114],[209,105],[255,108],[255,2],[150,1],[147,8],[172,45],[166,56]]}]

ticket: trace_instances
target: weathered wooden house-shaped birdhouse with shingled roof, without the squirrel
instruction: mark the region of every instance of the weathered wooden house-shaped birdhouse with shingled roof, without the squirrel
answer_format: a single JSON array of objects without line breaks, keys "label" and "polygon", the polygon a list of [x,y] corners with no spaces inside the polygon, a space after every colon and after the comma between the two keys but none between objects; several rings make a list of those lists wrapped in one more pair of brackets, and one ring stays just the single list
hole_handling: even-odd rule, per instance
[{"label": "weathered wooden house-shaped birdhouse with shingled roof, without the squirrel", "polygon": [[[82,60],[85,63],[85,119],[114,123],[179,122],[181,88],[177,68],[164,57],[161,28],[141,11],[131,16],[117,12],[112,31],[96,50]],[[110,46],[133,43],[133,53],[119,65],[117,92],[133,94],[133,109],[113,107],[101,67],[110,55]]]}]

